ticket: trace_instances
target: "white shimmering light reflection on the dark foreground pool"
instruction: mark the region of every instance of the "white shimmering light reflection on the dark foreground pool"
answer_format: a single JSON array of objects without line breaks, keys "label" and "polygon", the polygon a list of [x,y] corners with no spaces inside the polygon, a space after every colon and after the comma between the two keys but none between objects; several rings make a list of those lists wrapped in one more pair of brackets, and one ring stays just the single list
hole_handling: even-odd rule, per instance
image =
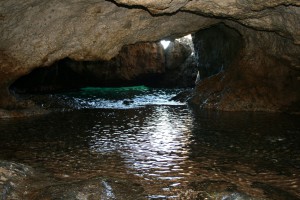
[{"label": "white shimmering light reflection on the dark foreground pool", "polygon": [[144,178],[181,179],[184,173],[178,172],[183,171],[181,164],[188,160],[192,119],[189,115],[179,118],[169,109],[172,108],[155,107],[143,121],[135,116],[118,130],[99,121],[90,131],[91,150],[117,151],[129,171]]}]

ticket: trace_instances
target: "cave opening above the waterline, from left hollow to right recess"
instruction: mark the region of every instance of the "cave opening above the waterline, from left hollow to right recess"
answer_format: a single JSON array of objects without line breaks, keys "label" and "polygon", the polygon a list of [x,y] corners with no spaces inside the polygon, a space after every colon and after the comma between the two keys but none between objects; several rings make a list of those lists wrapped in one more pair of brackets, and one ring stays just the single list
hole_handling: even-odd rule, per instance
[{"label": "cave opening above the waterline, from left hollow to right recess", "polygon": [[10,90],[34,94],[83,87],[192,88],[196,78],[203,80],[225,70],[241,44],[241,35],[221,23],[181,38],[126,45],[109,61],[65,58],[34,69]]}]

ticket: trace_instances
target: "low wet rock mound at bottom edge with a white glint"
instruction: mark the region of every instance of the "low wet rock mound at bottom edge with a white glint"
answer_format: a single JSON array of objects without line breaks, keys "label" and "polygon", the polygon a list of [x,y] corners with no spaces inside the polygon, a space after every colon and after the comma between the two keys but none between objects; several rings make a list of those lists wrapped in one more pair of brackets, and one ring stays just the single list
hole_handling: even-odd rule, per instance
[{"label": "low wet rock mound at bottom edge with a white glint", "polygon": [[134,183],[114,179],[92,179],[46,187],[31,199],[144,199],[144,189]]}]

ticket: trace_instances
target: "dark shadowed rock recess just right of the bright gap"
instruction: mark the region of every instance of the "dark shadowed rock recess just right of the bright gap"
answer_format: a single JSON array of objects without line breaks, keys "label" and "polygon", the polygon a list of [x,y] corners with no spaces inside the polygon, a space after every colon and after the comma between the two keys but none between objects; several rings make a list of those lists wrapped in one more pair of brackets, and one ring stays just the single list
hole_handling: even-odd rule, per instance
[{"label": "dark shadowed rock recess just right of the bright gap", "polygon": [[242,47],[239,32],[224,24],[198,31],[193,40],[200,80],[226,70]]}]

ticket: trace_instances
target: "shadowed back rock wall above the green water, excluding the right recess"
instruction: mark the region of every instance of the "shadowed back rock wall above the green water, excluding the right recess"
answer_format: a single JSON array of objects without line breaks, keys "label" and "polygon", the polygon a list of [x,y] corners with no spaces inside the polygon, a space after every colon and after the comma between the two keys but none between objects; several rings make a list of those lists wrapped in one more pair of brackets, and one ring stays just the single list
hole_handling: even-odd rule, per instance
[{"label": "shadowed back rock wall above the green water, excluding the right recess", "polygon": [[160,42],[124,46],[109,61],[63,59],[38,68],[11,86],[16,93],[44,93],[88,86],[194,86],[196,63],[191,48],[178,41],[164,49]]}]

